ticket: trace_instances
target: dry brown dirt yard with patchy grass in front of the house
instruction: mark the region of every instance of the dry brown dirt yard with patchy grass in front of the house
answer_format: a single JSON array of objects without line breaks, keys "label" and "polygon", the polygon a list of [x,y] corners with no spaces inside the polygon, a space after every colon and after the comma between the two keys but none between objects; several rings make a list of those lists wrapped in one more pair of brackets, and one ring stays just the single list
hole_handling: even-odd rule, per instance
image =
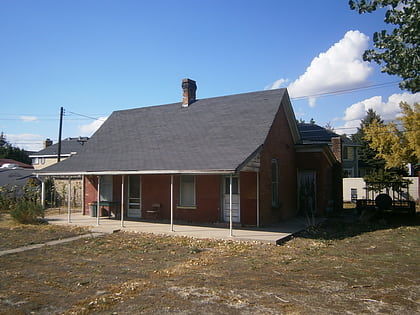
[{"label": "dry brown dirt yard with patchy grass in front of the house", "polygon": [[[334,218],[281,246],[119,232],[5,255],[0,314],[415,314],[418,223]],[[2,248],[27,242],[9,232]]]}]

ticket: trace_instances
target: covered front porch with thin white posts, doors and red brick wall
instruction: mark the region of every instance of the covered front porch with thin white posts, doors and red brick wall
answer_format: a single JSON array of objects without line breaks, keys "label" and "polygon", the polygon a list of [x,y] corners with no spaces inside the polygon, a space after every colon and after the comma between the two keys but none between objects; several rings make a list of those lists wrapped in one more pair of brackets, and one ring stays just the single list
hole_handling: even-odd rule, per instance
[{"label": "covered front porch with thin white posts, doors and red brick wall", "polygon": [[[71,197],[72,176],[68,175]],[[95,226],[113,219],[124,228],[132,221],[260,226],[258,172],[178,172],[176,174],[83,174],[83,208]],[[241,184],[243,183],[243,185]],[[44,193],[44,192],[43,192]],[[68,203],[68,223],[73,221]],[[109,221],[109,220],[108,220]],[[226,230],[226,228],[224,228]]]}]

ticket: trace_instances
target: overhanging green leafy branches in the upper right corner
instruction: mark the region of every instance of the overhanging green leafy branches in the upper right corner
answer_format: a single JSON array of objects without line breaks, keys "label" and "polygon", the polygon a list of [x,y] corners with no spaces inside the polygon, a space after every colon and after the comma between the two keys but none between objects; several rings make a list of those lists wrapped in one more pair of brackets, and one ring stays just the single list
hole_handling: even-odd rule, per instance
[{"label": "overhanging green leafy branches in the upper right corner", "polygon": [[385,23],[394,25],[375,32],[376,49],[366,50],[365,61],[383,64],[381,71],[402,78],[400,88],[413,93],[420,91],[420,1],[418,0],[350,0],[350,9],[359,14],[387,8]]}]

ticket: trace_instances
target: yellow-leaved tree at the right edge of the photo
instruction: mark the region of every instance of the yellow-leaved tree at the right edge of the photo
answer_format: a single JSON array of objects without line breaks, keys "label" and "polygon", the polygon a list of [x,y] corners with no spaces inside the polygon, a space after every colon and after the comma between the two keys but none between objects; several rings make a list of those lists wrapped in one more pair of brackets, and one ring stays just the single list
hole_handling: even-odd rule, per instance
[{"label": "yellow-leaved tree at the right edge of the photo", "polygon": [[400,108],[403,116],[397,123],[374,120],[364,129],[364,139],[377,151],[375,157],[385,160],[387,169],[416,164],[420,158],[420,104],[411,107],[402,102]]}]

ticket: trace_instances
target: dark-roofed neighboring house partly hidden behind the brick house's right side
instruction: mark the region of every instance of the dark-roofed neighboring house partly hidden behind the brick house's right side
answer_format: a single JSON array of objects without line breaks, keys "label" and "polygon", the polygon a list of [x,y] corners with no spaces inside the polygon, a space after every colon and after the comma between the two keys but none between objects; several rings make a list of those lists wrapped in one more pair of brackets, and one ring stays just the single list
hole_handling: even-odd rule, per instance
[{"label": "dark-roofed neighboring house partly hidden behind the brick house's right side", "polygon": [[302,143],[328,144],[332,146],[332,139],[339,138],[341,141],[341,159],[343,164],[343,177],[357,177],[359,173],[357,150],[359,144],[346,136],[340,136],[335,132],[316,124],[298,124]]}]

